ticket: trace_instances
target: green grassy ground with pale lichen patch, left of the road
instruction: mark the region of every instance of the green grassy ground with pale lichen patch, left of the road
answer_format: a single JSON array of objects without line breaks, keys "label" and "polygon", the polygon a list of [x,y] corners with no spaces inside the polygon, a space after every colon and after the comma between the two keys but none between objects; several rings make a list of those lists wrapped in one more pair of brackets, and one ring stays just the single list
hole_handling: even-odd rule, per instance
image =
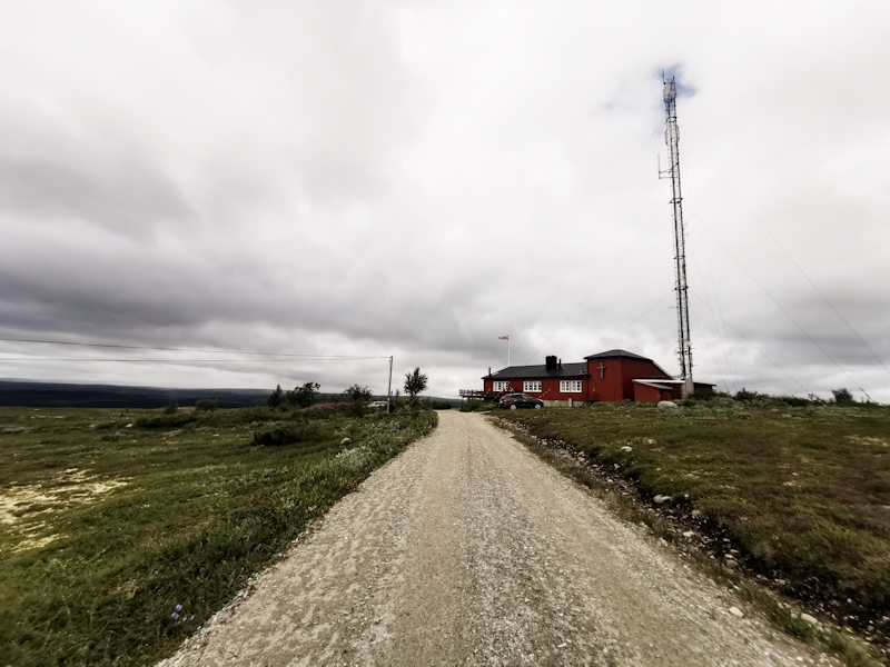
[{"label": "green grassy ground with pale lichen patch, left of the road", "polygon": [[0,408],[2,663],[170,655],[435,424],[416,409]]}]

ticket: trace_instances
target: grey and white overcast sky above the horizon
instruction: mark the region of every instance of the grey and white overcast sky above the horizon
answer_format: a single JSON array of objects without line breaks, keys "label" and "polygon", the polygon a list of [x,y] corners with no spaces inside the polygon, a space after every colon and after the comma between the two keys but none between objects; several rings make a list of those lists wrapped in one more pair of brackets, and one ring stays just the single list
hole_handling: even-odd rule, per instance
[{"label": "grey and white overcast sky above the horizon", "polygon": [[[506,335],[514,365],[678,372],[668,70],[695,379],[890,402],[888,34],[876,0],[6,1],[0,337],[393,355],[438,396],[506,366]],[[169,387],[388,370],[0,357]]]}]

